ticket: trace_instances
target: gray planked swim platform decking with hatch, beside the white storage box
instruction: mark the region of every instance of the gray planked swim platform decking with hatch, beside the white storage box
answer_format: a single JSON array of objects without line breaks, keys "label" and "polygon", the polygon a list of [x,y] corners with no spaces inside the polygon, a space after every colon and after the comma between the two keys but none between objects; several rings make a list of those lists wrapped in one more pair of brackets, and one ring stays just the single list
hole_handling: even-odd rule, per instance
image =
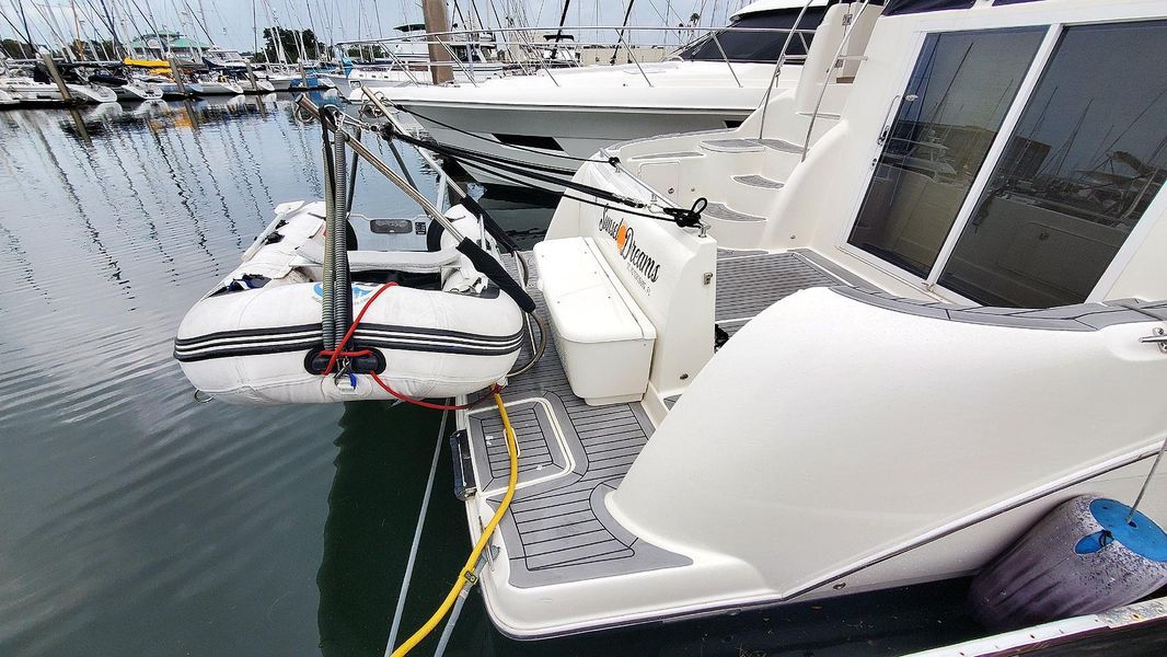
[{"label": "gray planked swim platform decking with hatch, beside the white storage box", "polygon": [[[529,292],[537,312],[546,316],[533,285]],[[526,357],[524,352],[520,361]],[[640,405],[585,404],[572,393],[553,342],[503,397],[522,450],[519,483],[529,484],[518,489],[499,525],[512,586],[531,588],[691,562],[638,540],[605,506],[605,496],[616,489],[652,433]],[[555,435],[552,418],[561,436]],[[497,504],[509,470],[497,411],[471,412],[468,433],[480,488]],[[568,463],[574,464],[569,470]]]}]

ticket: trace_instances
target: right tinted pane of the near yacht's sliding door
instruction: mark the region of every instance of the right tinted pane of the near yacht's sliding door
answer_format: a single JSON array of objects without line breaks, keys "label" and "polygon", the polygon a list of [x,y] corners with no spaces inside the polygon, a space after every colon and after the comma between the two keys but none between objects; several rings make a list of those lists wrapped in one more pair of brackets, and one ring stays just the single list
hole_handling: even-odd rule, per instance
[{"label": "right tinted pane of the near yacht's sliding door", "polygon": [[991,306],[1079,303],[1167,177],[1167,21],[1067,28],[939,278]]}]

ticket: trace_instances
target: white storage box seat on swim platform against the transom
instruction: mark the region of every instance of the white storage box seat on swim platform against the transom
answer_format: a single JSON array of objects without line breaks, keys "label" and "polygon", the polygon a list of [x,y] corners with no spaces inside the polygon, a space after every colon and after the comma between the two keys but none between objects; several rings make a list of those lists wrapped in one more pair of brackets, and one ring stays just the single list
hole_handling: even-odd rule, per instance
[{"label": "white storage box seat on swim platform against the transom", "polygon": [[587,237],[534,246],[539,291],[572,392],[588,405],[638,401],[649,384],[656,328]]}]

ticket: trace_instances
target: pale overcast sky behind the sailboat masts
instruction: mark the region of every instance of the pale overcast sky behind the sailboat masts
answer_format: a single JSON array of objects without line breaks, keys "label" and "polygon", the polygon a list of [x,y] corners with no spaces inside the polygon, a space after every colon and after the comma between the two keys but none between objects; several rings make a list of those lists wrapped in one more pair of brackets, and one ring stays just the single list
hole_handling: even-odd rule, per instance
[{"label": "pale overcast sky behind the sailboat masts", "polygon": [[[216,44],[224,48],[251,50],[254,43],[254,25],[260,30],[270,25],[268,8],[275,21],[285,28],[308,28],[315,26],[322,40],[351,40],[392,36],[392,28],[405,22],[421,22],[419,0],[105,0],[119,32],[126,23],[126,32],[146,32],[149,16],[159,29],[175,29],[207,40],[191,15],[205,16],[205,25]],[[137,6],[135,6],[137,4]],[[693,13],[701,14],[703,26],[722,26],[728,13],[746,5],[746,0],[635,0],[630,25],[662,26],[668,12],[669,25],[687,21]],[[41,43],[58,41],[55,35],[72,39],[76,25],[85,36],[95,30],[103,39],[109,30],[98,15],[102,0],[72,0],[77,7],[77,21],[70,0],[0,0],[0,13],[18,26],[20,6],[23,6],[33,36]],[[474,0],[482,21],[497,25],[497,16],[519,14],[525,7],[529,25],[554,26],[559,22],[562,0]],[[452,12],[454,2],[448,2]],[[457,0],[457,7],[467,18],[470,0]],[[189,11],[188,11],[189,9]],[[567,25],[620,25],[623,20],[624,0],[572,0]],[[120,16],[120,19],[119,19]],[[454,22],[461,22],[454,13]],[[137,29],[135,29],[137,28]],[[0,19],[0,36],[19,39],[19,35]],[[121,36],[119,34],[119,36]],[[587,36],[591,39],[591,36]],[[610,40],[612,36],[608,37]],[[648,35],[634,36],[637,41],[649,41]]]}]

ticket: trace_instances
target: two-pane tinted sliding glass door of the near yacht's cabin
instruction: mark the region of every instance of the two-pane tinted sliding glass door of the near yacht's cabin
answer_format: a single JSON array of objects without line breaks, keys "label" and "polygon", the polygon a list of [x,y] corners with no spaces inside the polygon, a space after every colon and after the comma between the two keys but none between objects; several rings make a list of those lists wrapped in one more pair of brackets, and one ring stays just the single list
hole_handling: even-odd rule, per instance
[{"label": "two-pane tinted sliding glass door of the near yacht's cabin", "polygon": [[1049,29],[925,37],[848,245],[985,305],[1090,296],[1167,180],[1167,21]]}]

